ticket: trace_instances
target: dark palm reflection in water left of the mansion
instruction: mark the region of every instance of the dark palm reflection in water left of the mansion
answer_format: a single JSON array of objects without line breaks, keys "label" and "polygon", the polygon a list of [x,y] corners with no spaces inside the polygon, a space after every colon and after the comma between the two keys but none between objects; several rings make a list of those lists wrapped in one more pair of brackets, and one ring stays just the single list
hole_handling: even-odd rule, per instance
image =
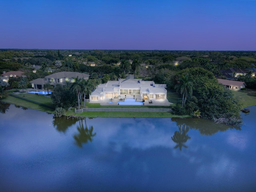
[{"label": "dark palm reflection in water left of the mansion", "polygon": [[[85,121],[85,128],[82,122],[83,119]],[[77,127],[77,130],[79,133],[74,135],[74,139],[76,141],[75,144],[79,147],[82,147],[82,144],[87,143],[88,141],[92,142],[92,137],[96,135],[96,133],[92,133],[93,126],[90,126],[88,129],[86,125],[86,118],[82,118],[81,120],[79,120],[79,126]]]}]

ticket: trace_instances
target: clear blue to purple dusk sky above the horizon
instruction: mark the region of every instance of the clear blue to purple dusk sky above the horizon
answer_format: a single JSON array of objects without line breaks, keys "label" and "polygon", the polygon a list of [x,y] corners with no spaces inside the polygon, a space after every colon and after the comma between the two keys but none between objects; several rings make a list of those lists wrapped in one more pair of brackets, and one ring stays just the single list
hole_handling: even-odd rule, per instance
[{"label": "clear blue to purple dusk sky above the horizon", "polygon": [[256,0],[0,0],[0,48],[256,50]]}]

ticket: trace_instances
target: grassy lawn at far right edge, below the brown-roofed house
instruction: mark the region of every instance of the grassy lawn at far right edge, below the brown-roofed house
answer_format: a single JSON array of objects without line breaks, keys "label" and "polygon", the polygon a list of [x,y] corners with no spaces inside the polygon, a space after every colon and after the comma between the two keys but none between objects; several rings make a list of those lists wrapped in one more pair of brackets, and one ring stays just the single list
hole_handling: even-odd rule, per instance
[{"label": "grassy lawn at far right edge, below the brown-roofed house", "polygon": [[243,102],[243,108],[256,105],[256,90],[246,89],[233,91],[234,95],[239,97]]}]

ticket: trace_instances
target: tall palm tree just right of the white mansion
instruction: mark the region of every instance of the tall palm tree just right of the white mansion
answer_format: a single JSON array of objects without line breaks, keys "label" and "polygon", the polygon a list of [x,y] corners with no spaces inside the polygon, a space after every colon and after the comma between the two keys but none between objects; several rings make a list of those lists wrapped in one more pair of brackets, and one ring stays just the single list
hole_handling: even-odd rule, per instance
[{"label": "tall palm tree just right of the white mansion", "polygon": [[192,96],[193,93],[193,83],[192,80],[188,78],[188,75],[181,75],[181,78],[178,79],[178,84],[175,85],[175,89],[182,95],[182,106],[186,103],[187,97]]}]

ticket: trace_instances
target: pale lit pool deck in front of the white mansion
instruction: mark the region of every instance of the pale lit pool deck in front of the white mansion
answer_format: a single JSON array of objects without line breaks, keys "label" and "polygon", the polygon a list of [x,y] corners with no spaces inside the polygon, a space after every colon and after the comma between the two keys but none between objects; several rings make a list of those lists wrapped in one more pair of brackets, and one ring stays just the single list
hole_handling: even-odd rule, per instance
[{"label": "pale lit pool deck in front of the white mansion", "polygon": [[[133,98],[133,96],[126,97],[126,98]],[[125,99],[125,98],[123,98],[123,99]],[[136,96],[135,96],[135,99],[136,99]],[[152,103],[149,103],[150,100],[152,100]],[[173,103],[169,102],[167,99],[166,100],[150,99],[150,100],[145,100],[144,106],[170,106],[170,104],[173,104]],[[113,103],[109,103],[110,101],[112,101]],[[123,100],[120,100],[120,98],[112,99],[112,100],[107,98],[100,102],[97,101],[97,102],[90,102],[90,103],[100,103],[100,105],[102,105],[102,106],[106,106],[106,105],[111,106],[111,105],[118,105],[118,102],[120,102],[120,101],[123,101]],[[137,97],[137,101],[142,101],[142,99]],[[122,105],[122,106],[130,106],[130,105]],[[136,106],[141,106],[141,105],[136,105]]]}]

